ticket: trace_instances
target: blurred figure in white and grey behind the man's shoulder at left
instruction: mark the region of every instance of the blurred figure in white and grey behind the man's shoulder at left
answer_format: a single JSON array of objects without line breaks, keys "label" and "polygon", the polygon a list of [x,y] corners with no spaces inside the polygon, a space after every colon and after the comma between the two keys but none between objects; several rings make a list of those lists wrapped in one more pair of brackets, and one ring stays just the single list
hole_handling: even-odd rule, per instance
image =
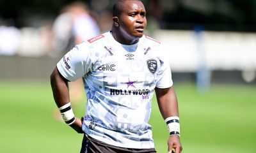
[{"label": "blurred figure in white and grey behind the man's shoulder at left", "polygon": [[67,52],[70,48],[100,34],[100,27],[90,15],[88,6],[75,1],[64,6],[54,21],[54,50],[58,53]]}]

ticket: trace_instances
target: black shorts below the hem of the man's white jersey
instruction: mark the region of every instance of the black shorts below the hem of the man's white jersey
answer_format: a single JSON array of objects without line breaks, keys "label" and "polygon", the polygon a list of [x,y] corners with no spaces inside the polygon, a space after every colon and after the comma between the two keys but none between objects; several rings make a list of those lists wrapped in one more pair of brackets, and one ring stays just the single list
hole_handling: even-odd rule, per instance
[{"label": "black shorts below the hem of the man's white jersey", "polygon": [[154,148],[130,149],[116,147],[114,145],[109,145],[108,143],[100,142],[99,140],[84,134],[80,153],[156,153],[156,150]]}]

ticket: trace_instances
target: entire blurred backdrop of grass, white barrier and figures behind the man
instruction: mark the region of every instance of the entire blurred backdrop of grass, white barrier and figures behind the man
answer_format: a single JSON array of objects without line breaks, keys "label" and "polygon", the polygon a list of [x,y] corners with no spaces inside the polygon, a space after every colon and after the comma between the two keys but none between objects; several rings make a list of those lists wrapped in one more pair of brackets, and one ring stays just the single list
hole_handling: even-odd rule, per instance
[{"label": "entire blurred backdrop of grass, white barrier and figures behind the man", "polygon": [[[56,119],[49,76],[74,45],[111,29],[113,3],[0,1],[0,152],[78,152],[81,136]],[[256,152],[256,0],[143,3],[146,34],[168,50],[184,152]],[[80,83],[70,92],[82,116]],[[168,133],[159,118],[155,101],[150,122],[161,153]]]}]

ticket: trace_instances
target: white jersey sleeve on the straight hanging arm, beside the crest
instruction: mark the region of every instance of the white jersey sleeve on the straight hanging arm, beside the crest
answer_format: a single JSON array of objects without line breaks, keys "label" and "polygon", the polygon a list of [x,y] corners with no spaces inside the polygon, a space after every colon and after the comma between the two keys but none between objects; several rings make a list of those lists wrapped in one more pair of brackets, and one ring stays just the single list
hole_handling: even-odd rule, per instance
[{"label": "white jersey sleeve on the straight hanging arm, beside the crest", "polygon": [[156,87],[164,89],[168,87],[172,87],[173,81],[172,81],[172,72],[170,68],[170,61],[166,55],[164,55],[164,52],[168,52],[168,50],[163,50],[163,47],[160,46],[158,48],[159,52],[159,61],[160,61],[160,68],[157,73],[158,80]]}]

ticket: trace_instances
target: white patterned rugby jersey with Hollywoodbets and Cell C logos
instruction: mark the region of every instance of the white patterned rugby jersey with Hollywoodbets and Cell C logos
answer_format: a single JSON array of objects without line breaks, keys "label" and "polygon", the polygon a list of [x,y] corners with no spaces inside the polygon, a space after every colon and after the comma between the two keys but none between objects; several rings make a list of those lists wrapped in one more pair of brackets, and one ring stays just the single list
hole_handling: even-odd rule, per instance
[{"label": "white patterned rugby jersey with Hollywoodbets and Cell C logos", "polygon": [[77,45],[58,62],[67,80],[83,77],[84,133],[117,147],[154,148],[148,124],[154,88],[173,84],[164,52],[168,50],[148,36],[122,45],[109,31]]}]

